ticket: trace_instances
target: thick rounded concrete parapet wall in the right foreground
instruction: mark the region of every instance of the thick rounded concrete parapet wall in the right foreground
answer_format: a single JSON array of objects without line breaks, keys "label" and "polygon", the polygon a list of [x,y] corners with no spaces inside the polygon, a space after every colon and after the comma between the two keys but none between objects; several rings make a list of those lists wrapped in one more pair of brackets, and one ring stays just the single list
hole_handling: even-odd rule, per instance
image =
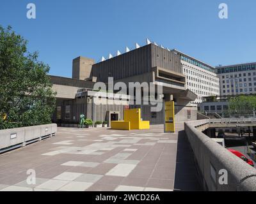
[{"label": "thick rounded concrete parapet wall in the right foreground", "polygon": [[[195,128],[210,120],[195,120],[184,124],[204,189],[207,191],[256,191],[256,169]],[[227,171],[227,177],[225,177],[225,171]],[[225,179],[227,184],[222,183]]]}]

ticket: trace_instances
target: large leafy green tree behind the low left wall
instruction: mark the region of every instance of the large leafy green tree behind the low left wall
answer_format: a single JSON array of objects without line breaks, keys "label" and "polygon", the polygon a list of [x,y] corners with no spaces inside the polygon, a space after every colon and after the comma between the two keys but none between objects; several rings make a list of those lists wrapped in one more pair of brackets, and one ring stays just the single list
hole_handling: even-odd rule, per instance
[{"label": "large leafy green tree behind the low left wall", "polygon": [[0,129],[51,123],[55,92],[38,53],[12,27],[0,25]]}]

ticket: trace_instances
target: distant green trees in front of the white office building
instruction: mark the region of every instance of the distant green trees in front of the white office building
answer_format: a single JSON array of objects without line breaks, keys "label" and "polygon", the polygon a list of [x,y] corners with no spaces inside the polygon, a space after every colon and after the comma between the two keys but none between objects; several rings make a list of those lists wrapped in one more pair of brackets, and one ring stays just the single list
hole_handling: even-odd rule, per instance
[{"label": "distant green trees in front of the white office building", "polygon": [[228,100],[228,110],[231,115],[252,115],[256,108],[256,96],[235,96]]}]

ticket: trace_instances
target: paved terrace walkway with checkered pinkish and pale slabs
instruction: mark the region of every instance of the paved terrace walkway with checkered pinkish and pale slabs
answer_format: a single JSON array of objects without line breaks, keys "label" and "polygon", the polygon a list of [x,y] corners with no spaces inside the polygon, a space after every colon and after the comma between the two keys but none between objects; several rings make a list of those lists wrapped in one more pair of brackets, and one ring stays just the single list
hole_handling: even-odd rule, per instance
[{"label": "paved terrace walkway with checkered pinkish and pale slabs", "polygon": [[[187,143],[178,142],[182,125],[177,133],[163,133],[163,125],[58,128],[55,137],[0,156],[0,191],[173,191],[177,143]],[[36,184],[26,182],[28,170]]]}]

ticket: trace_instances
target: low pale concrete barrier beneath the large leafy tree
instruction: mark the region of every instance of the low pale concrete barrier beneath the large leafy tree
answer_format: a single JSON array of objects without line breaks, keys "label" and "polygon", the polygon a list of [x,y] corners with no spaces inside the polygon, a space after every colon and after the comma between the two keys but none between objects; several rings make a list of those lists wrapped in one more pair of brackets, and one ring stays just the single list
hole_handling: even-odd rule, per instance
[{"label": "low pale concrete barrier beneath the large leafy tree", "polygon": [[54,136],[57,124],[0,130],[0,154]]}]

